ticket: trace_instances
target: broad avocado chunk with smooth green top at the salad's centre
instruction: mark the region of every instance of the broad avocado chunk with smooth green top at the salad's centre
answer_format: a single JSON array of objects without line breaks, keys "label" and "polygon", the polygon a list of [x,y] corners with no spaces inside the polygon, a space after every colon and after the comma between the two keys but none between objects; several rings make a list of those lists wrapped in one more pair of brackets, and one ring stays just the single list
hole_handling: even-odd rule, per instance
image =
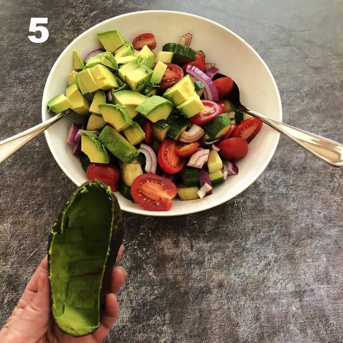
[{"label": "broad avocado chunk with smooth green top at the salad's centre", "polygon": [[173,107],[174,105],[167,99],[153,95],[137,106],[136,111],[155,123],[158,120],[167,119]]}]

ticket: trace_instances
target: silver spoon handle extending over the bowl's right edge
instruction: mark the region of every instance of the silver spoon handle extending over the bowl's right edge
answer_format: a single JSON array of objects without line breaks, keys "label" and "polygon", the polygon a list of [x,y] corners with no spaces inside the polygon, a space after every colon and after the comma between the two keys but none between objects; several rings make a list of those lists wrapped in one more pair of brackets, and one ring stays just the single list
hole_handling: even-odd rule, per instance
[{"label": "silver spoon handle extending over the bowl's right edge", "polygon": [[343,145],[317,134],[297,129],[280,121],[265,117],[249,108],[246,113],[281,132],[293,142],[332,167],[343,167]]}]

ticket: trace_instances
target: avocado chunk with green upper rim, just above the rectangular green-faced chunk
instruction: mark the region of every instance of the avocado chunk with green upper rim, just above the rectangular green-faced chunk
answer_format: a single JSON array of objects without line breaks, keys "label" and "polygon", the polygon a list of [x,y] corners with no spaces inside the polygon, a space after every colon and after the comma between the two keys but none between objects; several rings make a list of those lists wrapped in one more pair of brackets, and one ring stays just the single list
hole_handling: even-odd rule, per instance
[{"label": "avocado chunk with green upper rim, just above the rectangular green-faced chunk", "polygon": [[132,119],[124,106],[113,104],[98,105],[101,115],[119,132],[133,125]]}]

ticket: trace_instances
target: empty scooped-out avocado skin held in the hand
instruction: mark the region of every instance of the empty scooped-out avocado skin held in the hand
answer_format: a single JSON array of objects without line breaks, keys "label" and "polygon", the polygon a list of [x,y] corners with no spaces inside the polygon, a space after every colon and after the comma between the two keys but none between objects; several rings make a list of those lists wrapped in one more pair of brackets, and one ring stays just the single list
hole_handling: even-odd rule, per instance
[{"label": "empty scooped-out avocado skin held in the hand", "polygon": [[[85,182],[57,215],[49,236],[52,315],[62,332],[80,337],[99,327],[122,239],[115,194],[99,180]],[[75,260],[78,254],[83,256],[81,260]]]}]

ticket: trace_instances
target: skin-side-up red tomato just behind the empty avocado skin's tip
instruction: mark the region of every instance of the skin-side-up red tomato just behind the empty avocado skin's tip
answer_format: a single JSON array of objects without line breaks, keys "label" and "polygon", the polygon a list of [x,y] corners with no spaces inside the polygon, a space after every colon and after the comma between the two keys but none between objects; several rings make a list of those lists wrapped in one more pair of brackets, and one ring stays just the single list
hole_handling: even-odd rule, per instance
[{"label": "skin-side-up red tomato just behind the empty avocado skin's tip", "polygon": [[[99,179],[107,186],[117,187],[119,180],[119,169],[113,163],[90,163],[86,171],[87,178],[94,182],[95,179]],[[114,190],[114,189],[112,189]]]}]

